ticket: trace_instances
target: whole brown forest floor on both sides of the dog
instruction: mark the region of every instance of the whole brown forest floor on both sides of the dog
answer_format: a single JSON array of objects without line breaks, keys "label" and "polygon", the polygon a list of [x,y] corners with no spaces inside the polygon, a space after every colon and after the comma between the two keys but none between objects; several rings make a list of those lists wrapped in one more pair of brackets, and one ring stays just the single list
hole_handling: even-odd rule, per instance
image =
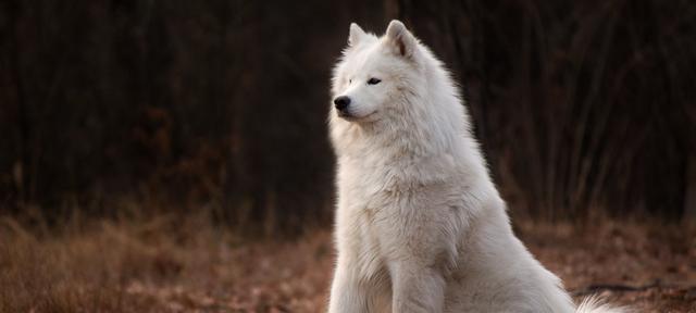
[{"label": "whole brown forest floor on both sides of the dog", "polygon": [[[328,230],[250,242],[206,221],[29,231],[0,218],[0,312],[323,312]],[[515,233],[576,299],[596,291],[639,312],[696,312],[694,227],[518,223]]]}]

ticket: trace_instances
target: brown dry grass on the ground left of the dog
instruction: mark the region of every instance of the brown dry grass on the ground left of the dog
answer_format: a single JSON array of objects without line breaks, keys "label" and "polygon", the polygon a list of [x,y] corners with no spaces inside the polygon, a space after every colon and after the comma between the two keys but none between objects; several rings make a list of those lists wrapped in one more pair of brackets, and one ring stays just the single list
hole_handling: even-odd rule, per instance
[{"label": "brown dry grass on the ground left of the dog", "polygon": [[243,245],[202,214],[0,225],[1,312],[313,312],[331,272],[327,234]]}]

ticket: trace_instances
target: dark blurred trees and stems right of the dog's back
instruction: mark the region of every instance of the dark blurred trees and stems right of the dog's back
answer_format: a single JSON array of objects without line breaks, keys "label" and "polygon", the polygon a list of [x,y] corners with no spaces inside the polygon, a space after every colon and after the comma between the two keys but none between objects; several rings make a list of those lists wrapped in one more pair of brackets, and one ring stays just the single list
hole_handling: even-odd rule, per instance
[{"label": "dark blurred trees and stems right of the dog's back", "polygon": [[695,2],[393,7],[461,79],[517,209],[548,217],[696,212]]}]

